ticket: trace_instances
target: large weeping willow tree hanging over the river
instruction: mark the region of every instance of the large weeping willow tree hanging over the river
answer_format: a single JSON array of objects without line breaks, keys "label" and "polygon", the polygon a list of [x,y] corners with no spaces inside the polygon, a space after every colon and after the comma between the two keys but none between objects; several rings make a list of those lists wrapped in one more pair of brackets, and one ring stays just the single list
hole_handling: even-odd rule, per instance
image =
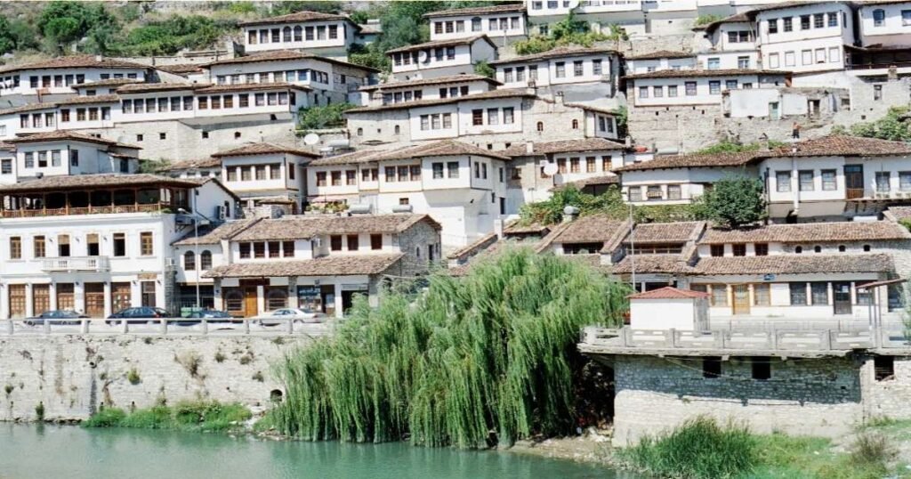
[{"label": "large weeping willow tree hanging over the river", "polygon": [[417,294],[355,303],[336,335],[276,372],[282,432],[307,440],[485,447],[575,420],[573,373],[587,325],[616,325],[626,286],[590,266],[516,249]]}]

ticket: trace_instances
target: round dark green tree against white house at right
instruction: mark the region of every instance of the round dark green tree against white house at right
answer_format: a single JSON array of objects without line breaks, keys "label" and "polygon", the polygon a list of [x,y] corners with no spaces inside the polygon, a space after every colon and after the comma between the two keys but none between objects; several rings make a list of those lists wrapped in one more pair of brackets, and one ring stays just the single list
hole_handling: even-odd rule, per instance
[{"label": "round dark green tree against white house at right", "polygon": [[763,182],[759,178],[731,176],[715,182],[711,190],[696,203],[713,223],[736,228],[763,220],[765,199]]}]

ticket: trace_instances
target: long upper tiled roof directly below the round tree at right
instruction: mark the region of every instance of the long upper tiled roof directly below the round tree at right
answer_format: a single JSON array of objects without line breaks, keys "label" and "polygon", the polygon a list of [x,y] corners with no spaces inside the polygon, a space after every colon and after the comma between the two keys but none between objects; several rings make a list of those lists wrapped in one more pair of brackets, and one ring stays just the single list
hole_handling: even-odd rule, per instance
[{"label": "long upper tiled roof directly below the round tree at right", "polygon": [[911,239],[904,226],[890,221],[769,224],[755,228],[709,228],[700,245],[742,243],[835,243]]}]

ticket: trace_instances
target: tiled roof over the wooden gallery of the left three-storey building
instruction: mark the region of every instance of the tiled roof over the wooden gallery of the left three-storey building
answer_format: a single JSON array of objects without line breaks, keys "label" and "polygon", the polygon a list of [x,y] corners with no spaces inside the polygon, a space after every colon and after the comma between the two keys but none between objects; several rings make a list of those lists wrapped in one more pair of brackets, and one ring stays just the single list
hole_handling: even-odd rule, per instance
[{"label": "tiled roof over the wooden gallery of the left three-storey building", "polygon": [[0,193],[31,193],[51,190],[75,190],[102,186],[144,185],[168,185],[182,188],[193,188],[196,187],[198,183],[148,173],[80,174],[72,176],[46,176],[39,180],[7,184],[0,186]]}]

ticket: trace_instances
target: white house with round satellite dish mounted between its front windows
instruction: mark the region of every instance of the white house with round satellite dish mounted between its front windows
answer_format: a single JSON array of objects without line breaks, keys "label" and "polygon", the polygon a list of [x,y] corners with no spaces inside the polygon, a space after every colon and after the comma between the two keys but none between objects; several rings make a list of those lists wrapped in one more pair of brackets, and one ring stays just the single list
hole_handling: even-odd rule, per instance
[{"label": "white house with round satellite dish mounted between its front windows", "polygon": [[496,60],[496,45],[486,35],[435,40],[386,50],[399,80],[474,73],[479,62]]}]

